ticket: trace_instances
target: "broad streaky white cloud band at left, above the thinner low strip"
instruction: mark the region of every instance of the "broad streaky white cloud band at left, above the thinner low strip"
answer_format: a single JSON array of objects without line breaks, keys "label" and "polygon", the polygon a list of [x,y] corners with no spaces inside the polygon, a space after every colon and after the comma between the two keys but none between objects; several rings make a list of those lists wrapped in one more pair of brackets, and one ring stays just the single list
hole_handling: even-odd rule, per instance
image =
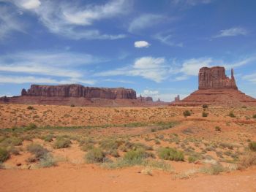
[{"label": "broad streaky white cloud band at left, above the thinner low strip", "polygon": [[[77,81],[86,75],[82,66],[102,61],[91,55],[72,52],[20,52],[0,56],[0,72],[46,75]],[[80,66],[80,67],[78,67]],[[79,80],[82,82],[81,80]],[[86,83],[86,82],[84,82]]]}]

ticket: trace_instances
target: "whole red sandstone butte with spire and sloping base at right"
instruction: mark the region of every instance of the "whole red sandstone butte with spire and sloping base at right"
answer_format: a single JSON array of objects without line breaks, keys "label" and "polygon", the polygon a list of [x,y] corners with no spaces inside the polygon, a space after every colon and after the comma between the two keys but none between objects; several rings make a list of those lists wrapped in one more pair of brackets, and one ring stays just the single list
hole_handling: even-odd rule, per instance
[{"label": "whole red sandstone butte with spire and sloping base at right", "polygon": [[231,69],[231,78],[225,74],[225,67],[203,67],[198,73],[198,90],[186,98],[173,101],[173,106],[196,106],[202,104],[242,106],[256,105],[256,99],[238,91],[234,71]]}]

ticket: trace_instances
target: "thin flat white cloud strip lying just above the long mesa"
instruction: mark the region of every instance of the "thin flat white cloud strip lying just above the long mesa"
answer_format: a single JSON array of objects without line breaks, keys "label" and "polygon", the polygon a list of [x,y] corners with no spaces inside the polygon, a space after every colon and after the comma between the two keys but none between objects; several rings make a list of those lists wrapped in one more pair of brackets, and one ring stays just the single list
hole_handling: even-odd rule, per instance
[{"label": "thin flat white cloud strip lying just above the long mesa", "polygon": [[48,84],[71,84],[71,83],[83,83],[88,85],[94,85],[94,80],[83,80],[83,79],[67,79],[67,80],[56,80],[48,77],[34,77],[34,76],[11,76],[11,75],[0,75],[0,83],[48,83]]}]

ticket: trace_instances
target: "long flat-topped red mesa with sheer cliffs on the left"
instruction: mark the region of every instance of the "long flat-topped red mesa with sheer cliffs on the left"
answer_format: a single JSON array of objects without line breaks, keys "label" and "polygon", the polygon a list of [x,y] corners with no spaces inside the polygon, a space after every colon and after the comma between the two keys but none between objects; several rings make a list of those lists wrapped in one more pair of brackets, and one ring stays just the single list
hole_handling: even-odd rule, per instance
[{"label": "long flat-topped red mesa with sheer cliffs on the left", "polygon": [[31,85],[28,91],[23,89],[21,96],[45,97],[83,97],[100,99],[136,99],[133,89],[94,88],[83,85]]}]

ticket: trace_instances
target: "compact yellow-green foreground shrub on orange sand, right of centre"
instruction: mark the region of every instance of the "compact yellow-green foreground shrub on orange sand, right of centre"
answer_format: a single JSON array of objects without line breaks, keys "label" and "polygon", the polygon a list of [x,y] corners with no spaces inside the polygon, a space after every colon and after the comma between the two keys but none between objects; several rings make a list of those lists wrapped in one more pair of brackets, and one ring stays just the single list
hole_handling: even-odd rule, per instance
[{"label": "compact yellow-green foreground shrub on orange sand, right of centre", "polygon": [[159,148],[158,156],[159,158],[170,161],[184,161],[183,152],[170,147]]}]

